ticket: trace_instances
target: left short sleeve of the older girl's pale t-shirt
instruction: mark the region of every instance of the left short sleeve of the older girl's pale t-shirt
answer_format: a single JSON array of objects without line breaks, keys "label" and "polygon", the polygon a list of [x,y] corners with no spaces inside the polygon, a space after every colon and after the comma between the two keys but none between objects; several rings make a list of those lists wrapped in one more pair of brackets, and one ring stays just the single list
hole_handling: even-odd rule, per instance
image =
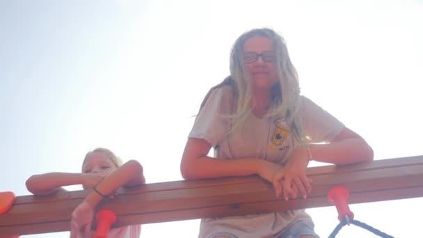
[{"label": "left short sleeve of the older girl's pale t-shirt", "polygon": [[218,145],[230,127],[230,86],[212,89],[207,101],[195,118],[189,138],[202,138]]}]

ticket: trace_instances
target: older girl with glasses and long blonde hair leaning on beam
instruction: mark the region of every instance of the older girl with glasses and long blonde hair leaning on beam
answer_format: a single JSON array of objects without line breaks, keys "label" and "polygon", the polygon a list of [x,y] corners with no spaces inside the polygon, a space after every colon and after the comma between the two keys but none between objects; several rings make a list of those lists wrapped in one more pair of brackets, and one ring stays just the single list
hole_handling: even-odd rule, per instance
[{"label": "older girl with glasses and long blonde hair leaning on beam", "polygon": [[[209,150],[214,149],[214,157]],[[205,96],[181,161],[184,179],[257,174],[283,199],[307,198],[310,160],[352,164],[372,148],[300,95],[284,39],[271,29],[241,35],[230,76]],[[304,210],[202,219],[200,237],[318,237]]]}]

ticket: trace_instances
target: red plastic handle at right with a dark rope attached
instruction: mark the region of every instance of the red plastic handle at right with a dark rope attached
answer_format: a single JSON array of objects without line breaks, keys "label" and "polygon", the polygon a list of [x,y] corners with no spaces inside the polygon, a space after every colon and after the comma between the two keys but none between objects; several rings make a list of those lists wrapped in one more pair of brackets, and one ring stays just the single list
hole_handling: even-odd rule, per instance
[{"label": "red plastic handle at right with a dark rope attached", "polygon": [[348,207],[349,192],[344,187],[335,187],[330,189],[328,193],[328,200],[330,203],[335,205],[338,211],[338,220],[342,221],[345,216],[349,219],[354,219],[353,212]]}]

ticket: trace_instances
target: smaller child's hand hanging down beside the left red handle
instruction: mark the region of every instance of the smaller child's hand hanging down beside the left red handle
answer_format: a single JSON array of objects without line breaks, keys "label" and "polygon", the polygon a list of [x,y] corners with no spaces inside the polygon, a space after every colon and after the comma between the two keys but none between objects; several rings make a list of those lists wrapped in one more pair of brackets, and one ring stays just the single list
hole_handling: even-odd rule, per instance
[{"label": "smaller child's hand hanging down beside the left red handle", "polygon": [[91,224],[94,218],[94,207],[83,201],[72,212],[70,222],[70,238],[91,237]]}]

